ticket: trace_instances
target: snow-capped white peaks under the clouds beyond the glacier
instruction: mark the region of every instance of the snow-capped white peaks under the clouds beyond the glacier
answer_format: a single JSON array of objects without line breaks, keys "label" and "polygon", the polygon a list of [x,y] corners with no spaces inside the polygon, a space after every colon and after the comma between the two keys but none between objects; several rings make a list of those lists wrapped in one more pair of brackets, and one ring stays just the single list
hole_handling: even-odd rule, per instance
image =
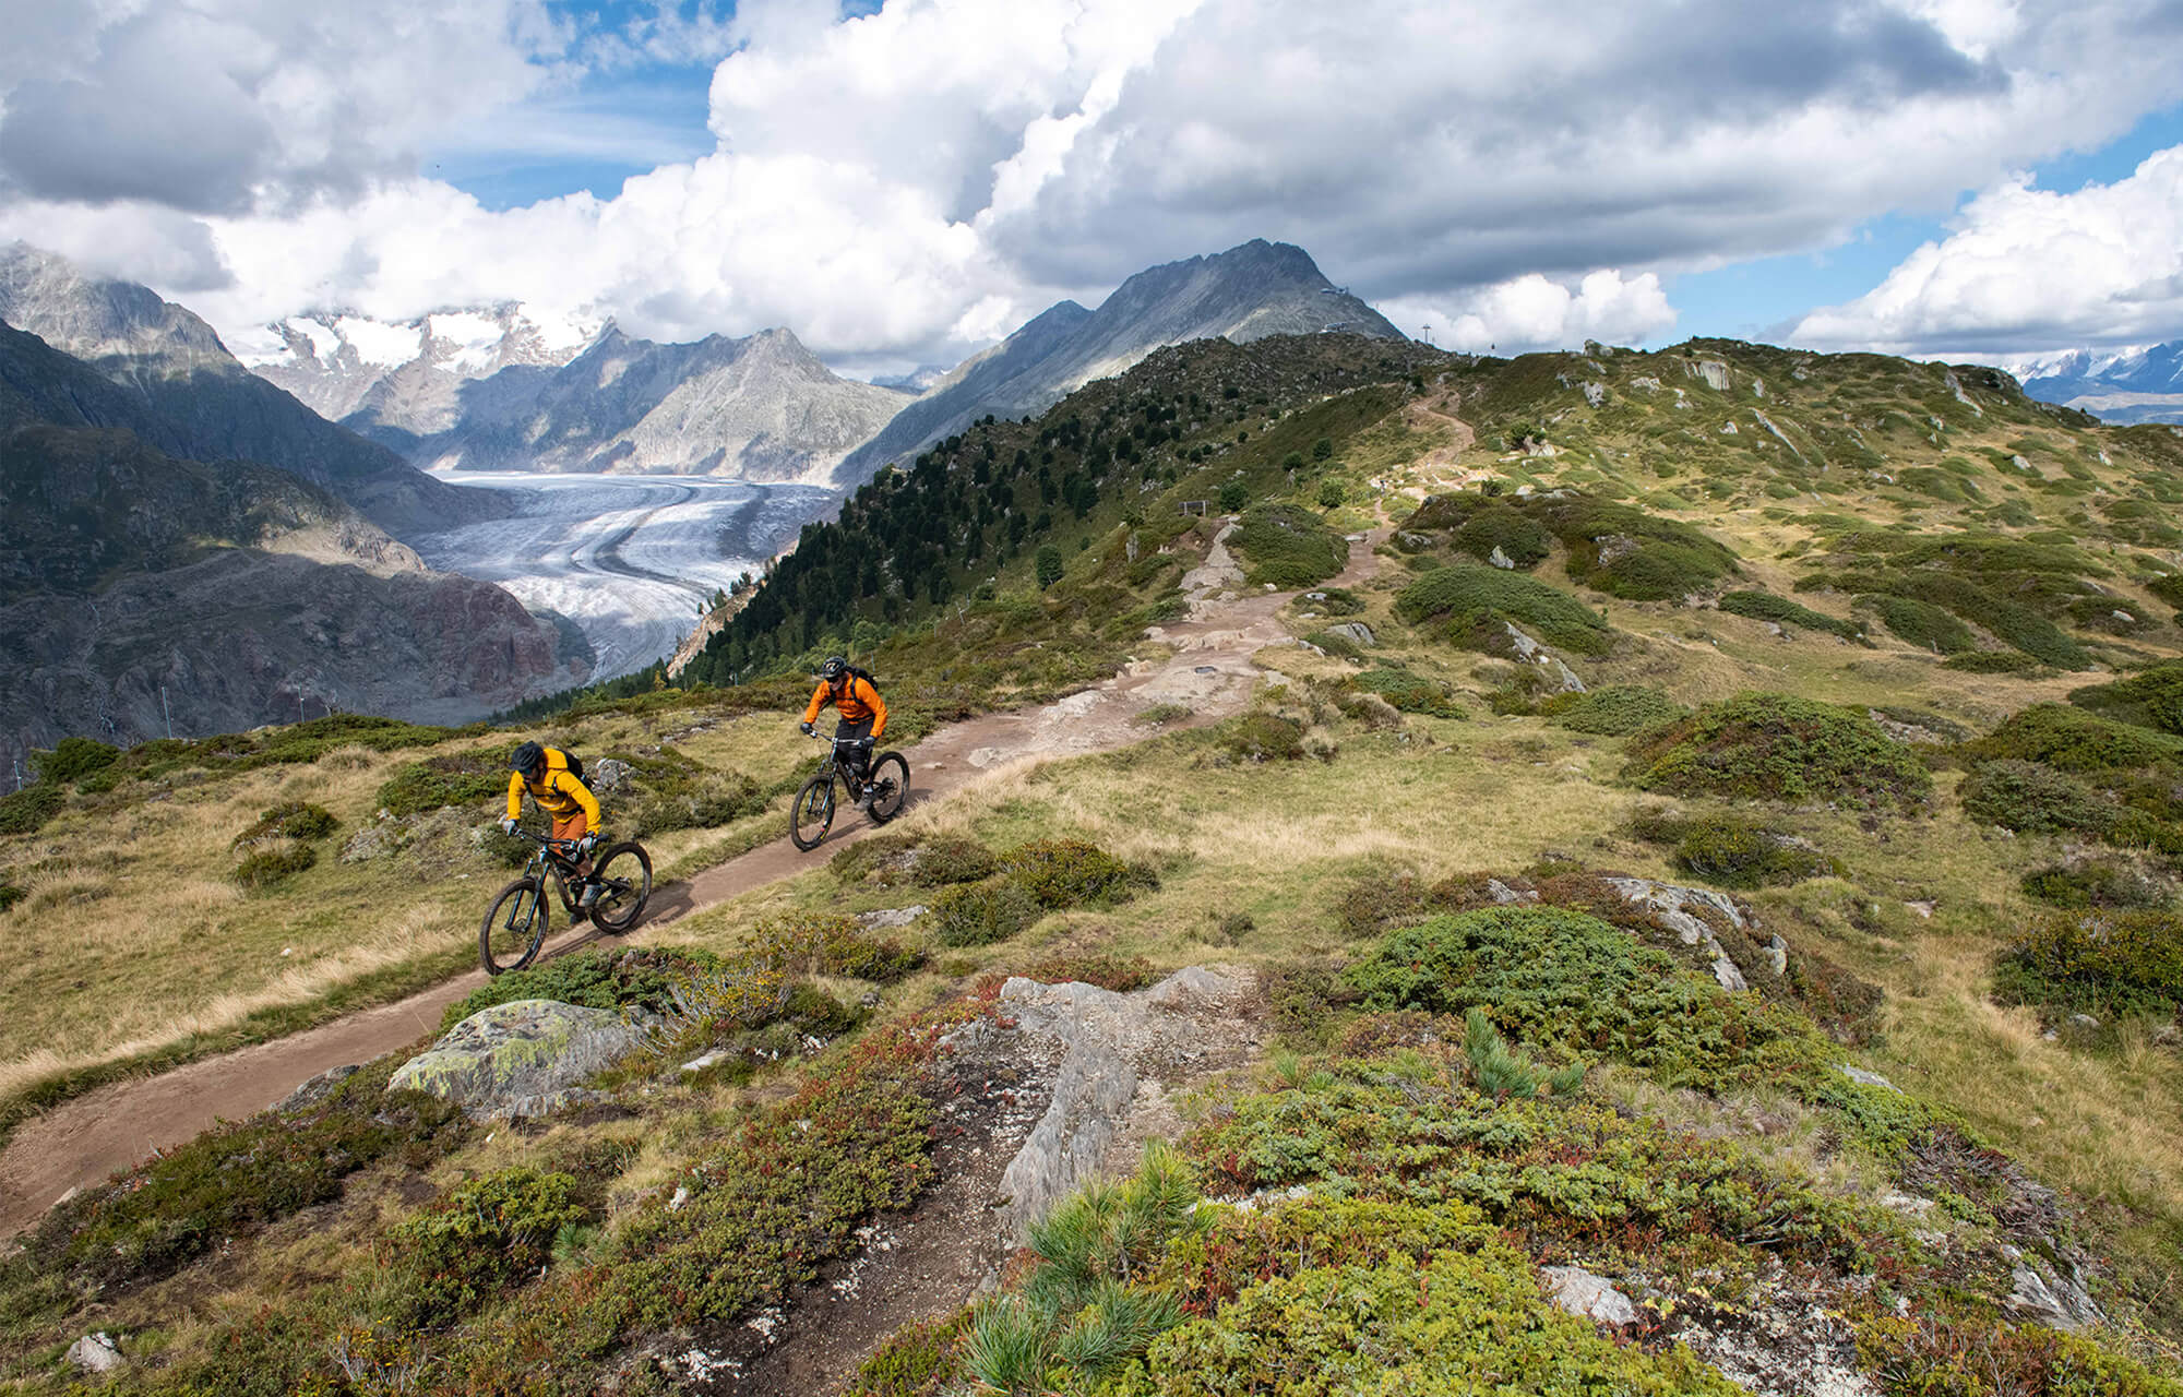
[{"label": "snow-capped white peaks under the clouds beyond the glacier", "polygon": [[463,384],[511,365],[559,369],[600,330],[594,317],[520,303],[413,321],[317,312],[266,325],[240,358],[321,417],[389,441],[454,428]]}]

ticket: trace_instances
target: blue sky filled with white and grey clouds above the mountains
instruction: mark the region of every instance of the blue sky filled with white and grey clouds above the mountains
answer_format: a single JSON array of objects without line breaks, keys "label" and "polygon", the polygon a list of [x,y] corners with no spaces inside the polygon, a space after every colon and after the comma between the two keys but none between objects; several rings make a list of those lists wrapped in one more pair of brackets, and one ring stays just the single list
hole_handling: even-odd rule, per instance
[{"label": "blue sky filled with white and grey clouds above the mountains", "polygon": [[1434,343],[2183,338],[2183,0],[0,0],[0,240],[231,345],[952,365],[1249,238]]}]

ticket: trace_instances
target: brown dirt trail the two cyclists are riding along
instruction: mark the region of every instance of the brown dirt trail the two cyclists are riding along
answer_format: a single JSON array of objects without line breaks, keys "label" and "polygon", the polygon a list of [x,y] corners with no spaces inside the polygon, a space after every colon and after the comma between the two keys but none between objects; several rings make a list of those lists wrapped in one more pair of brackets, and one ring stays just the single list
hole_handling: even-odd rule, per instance
[{"label": "brown dirt trail the two cyclists are riding along", "polygon": [[[1159,703],[1188,705],[1190,725],[1240,712],[1257,683],[1251,655],[1290,640],[1277,616],[1295,592],[1246,592],[1225,546],[1231,530],[1222,528],[1205,561],[1183,578],[1188,618],[1146,631],[1148,642],[1172,646],[1168,657],[1135,661],[1113,679],[1041,707],[985,714],[932,733],[904,751],[910,803],[939,799],[1022,757],[1070,757],[1140,742],[1150,729],[1135,716]],[[1382,537],[1384,530],[1373,530],[1351,539],[1349,565],[1336,585],[1353,587],[1377,574]],[[854,810],[836,819],[843,827],[810,853],[779,838],[685,882],[664,884],[653,893],[644,926],[672,923],[803,873],[873,832]],[[592,928],[576,928],[550,941],[544,956],[598,939]],[[0,1238],[28,1227],[65,1194],[194,1139],[220,1120],[255,1115],[321,1072],[421,1043],[439,1030],[441,1013],[480,984],[485,971],[469,971],[271,1043],[98,1087],[24,1122],[0,1153]]]}]

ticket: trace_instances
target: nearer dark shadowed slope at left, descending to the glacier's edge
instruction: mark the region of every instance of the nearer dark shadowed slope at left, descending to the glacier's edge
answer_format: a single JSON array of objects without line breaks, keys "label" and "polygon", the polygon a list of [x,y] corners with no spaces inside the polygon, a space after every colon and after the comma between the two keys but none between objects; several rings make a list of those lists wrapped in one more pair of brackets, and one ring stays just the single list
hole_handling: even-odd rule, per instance
[{"label": "nearer dark shadowed slope at left, descending to the glacier's edge", "polygon": [[[144,430],[144,437],[135,428]],[[177,428],[0,325],[0,725],[28,744],[238,731],[299,705],[474,718],[585,672],[504,589]]]}]

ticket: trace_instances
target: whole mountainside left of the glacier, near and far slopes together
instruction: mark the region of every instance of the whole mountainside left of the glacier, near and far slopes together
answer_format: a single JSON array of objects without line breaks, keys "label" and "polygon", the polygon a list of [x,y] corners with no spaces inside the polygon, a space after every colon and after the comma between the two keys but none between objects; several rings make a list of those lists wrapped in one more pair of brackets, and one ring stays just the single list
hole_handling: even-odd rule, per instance
[{"label": "whole mountainside left of the glacier, near and far slopes together", "polygon": [[9,249],[0,292],[96,356],[0,323],[7,747],[334,707],[467,720],[589,674],[561,629],[430,572],[360,511],[489,493],[325,423],[142,286]]}]

